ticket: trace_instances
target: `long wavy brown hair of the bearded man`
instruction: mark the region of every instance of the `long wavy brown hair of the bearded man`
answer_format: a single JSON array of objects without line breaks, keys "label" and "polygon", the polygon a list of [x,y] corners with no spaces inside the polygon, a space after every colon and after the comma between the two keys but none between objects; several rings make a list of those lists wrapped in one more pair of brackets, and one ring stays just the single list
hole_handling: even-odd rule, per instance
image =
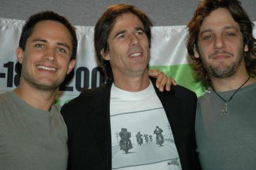
[{"label": "long wavy brown hair of the bearded man", "polygon": [[244,52],[245,66],[248,74],[250,74],[251,77],[254,77],[256,73],[256,40],[252,35],[254,23],[250,21],[250,18],[241,6],[241,2],[237,0],[204,0],[200,2],[197,10],[194,12],[193,18],[187,25],[189,32],[187,51],[188,55],[195,62],[194,70],[198,79],[208,83],[211,81],[206,69],[203,67],[201,58],[196,58],[194,56],[194,50],[197,50],[198,52],[198,36],[204,18],[218,8],[227,9],[234,21],[240,26],[244,46],[248,46],[248,52]]}]

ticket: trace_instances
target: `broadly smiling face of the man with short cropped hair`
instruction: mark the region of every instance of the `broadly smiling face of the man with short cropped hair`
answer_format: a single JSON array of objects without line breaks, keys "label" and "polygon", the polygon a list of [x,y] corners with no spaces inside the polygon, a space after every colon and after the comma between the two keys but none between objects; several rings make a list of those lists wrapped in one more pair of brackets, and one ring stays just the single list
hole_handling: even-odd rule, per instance
[{"label": "broadly smiling face of the man with short cropped hair", "polygon": [[56,90],[75,66],[69,30],[62,23],[41,21],[29,36],[25,51],[16,51],[22,64],[21,83],[41,90]]}]

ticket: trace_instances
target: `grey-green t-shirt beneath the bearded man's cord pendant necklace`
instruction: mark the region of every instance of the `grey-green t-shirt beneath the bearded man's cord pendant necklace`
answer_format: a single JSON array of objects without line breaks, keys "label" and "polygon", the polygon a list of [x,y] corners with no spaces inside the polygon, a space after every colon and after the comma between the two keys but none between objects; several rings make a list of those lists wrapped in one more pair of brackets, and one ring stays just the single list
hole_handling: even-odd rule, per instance
[{"label": "grey-green t-shirt beneath the bearded man's cord pendant necklace", "polygon": [[[218,92],[226,101],[235,90]],[[198,98],[197,151],[203,169],[256,169],[256,83],[242,87],[228,103],[213,90]]]}]

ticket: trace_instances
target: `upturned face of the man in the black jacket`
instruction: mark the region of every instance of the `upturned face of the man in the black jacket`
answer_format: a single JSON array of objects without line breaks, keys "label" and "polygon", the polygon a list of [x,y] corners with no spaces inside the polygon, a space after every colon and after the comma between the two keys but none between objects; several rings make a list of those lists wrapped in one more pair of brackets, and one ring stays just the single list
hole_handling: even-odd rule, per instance
[{"label": "upturned face of the man in the black jacket", "polygon": [[150,59],[149,42],[142,21],[132,13],[117,17],[110,32],[109,51],[102,56],[109,60],[115,78],[142,76]]}]

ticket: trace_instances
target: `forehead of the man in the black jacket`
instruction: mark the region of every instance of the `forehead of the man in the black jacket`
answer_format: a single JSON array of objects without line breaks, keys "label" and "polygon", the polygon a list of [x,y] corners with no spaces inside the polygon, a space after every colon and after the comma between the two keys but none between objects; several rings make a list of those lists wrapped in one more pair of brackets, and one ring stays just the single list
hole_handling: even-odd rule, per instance
[{"label": "forehead of the man in the black jacket", "polygon": [[133,13],[128,12],[117,16],[111,32],[134,29],[137,27],[144,29],[142,21],[140,21],[139,17],[137,17]]}]

